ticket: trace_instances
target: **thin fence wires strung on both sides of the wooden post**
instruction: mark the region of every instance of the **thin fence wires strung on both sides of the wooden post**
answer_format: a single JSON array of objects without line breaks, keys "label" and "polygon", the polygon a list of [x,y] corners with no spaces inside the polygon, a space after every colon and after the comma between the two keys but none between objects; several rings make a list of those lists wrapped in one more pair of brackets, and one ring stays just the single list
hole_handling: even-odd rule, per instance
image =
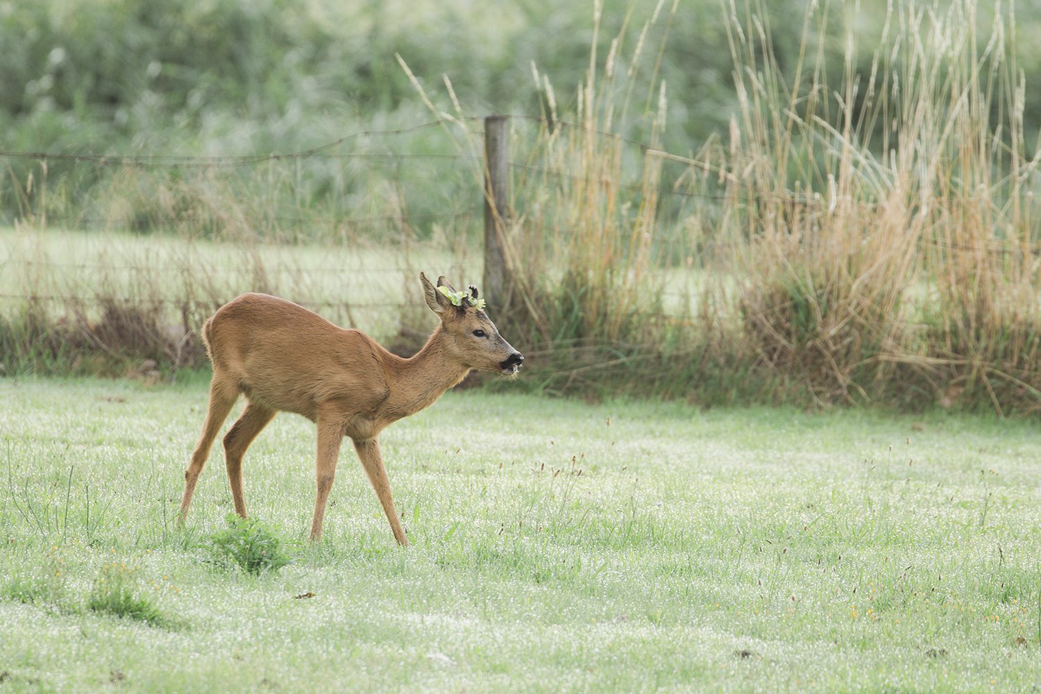
[{"label": "thin fence wires strung on both sides of the wooden post", "polygon": [[[441,152],[373,152],[373,151],[351,151],[344,152],[338,151],[340,148],[358,143],[360,140],[378,140],[379,138],[393,138],[410,133],[416,133],[425,130],[433,129],[445,129],[445,128],[457,128],[462,127],[473,135],[480,135],[481,130],[478,126],[471,127],[471,122],[481,122],[485,117],[475,115],[465,119],[446,121],[442,119],[430,120],[423,123],[417,123],[412,126],[395,128],[395,129],[367,129],[353,132],[350,134],[342,135],[335,139],[323,143],[321,145],[291,152],[274,152],[269,154],[246,154],[246,155],[219,155],[219,156],[196,156],[186,154],[170,154],[170,153],[158,153],[158,154],[98,154],[98,153],[75,153],[75,152],[42,152],[42,151],[11,151],[11,150],[0,150],[0,159],[7,160],[21,160],[39,162],[40,164],[46,164],[49,161],[66,161],[72,164],[75,163],[85,163],[92,164],[97,168],[122,168],[130,170],[228,170],[228,169],[239,169],[246,166],[261,166],[264,164],[272,164],[275,162],[301,162],[309,159],[329,159],[336,161],[348,161],[353,159],[358,160],[385,160],[395,161],[398,163],[407,163],[410,161],[430,161],[435,163],[447,163],[454,165],[457,163],[464,164],[467,170],[474,174],[475,178],[478,180],[472,181],[473,189],[472,196],[469,198],[469,204],[465,206],[465,209],[453,209],[449,211],[431,211],[423,210],[416,212],[402,211],[397,214],[357,214],[357,213],[345,213],[345,214],[328,214],[327,212],[316,212],[315,214],[287,214],[284,212],[269,213],[271,210],[247,210],[247,212],[252,215],[249,216],[245,222],[247,226],[253,225],[264,225],[264,224],[275,224],[275,225],[293,225],[296,228],[306,228],[307,226],[314,225],[328,225],[334,228],[348,228],[354,230],[376,230],[381,226],[391,226],[395,228],[408,228],[416,225],[430,224],[435,222],[459,222],[459,221],[476,221],[479,220],[483,213],[482,209],[475,208],[473,202],[480,200],[482,194],[480,190],[479,179],[484,173],[483,157],[478,154],[471,154],[464,151],[455,151],[453,153],[441,153]],[[549,119],[544,115],[531,115],[531,114],[510,114],[509,118],[516,119],[517,121],[532,123],[538,128],[543,128],[547,130],[555,130],[558,128],[566,129],[579,129],[587,132],[592,132],[599,137],[611,138],[615,142],[623,143],[626,146],[631,146],[637,148],[641,154],[656,150],[648,143],[639,142],[637,139],[624,137],[616,133],[605,132],[601,130],[593,129],[586,124],[572,123],[565,120],[559,119]],[[674,157],[676,160],[688,161],[684,157],[678,155],[670,155],[668,153],[661,153],[666,157]],[[566,182],[581,182],[586,185],[602,185],[609,186],[615,190],[625,190],[629,194],[633,194],[633,198],[636,201],[640,200],[641,196],[654,195],[661,199],[675,199],[681,201],[681,207],[679,209],[687,209],[682,205],[692,204],[696,202],[707,202],[707,203],[719,203],[719,202],[730,202],[740,205],[745,205],[751,209],[754,209],[758,203],[763,200],[775,200],[781,201],[786,204],[797,206],[807,210],[812,210],[814,214],[820,214],[822,216],[841,216],[843,214],[849,215],[850,219],[855,217],[855,214],[850,214],[847,211],[836,211],[833,209],[834,201],[830,201],[822,196],[808,196],[805,194],[795,194],[790,191],[777,192],[777,191],[765,191],[756,192],[752,196],[736,195],[734,191],[711,191],[711,190],[694,190],[689,187],[684,187],[682,183],[682,178],[678,179],[677,183],[669,186],[663,185],[649,185],[645,183],[633,182],[633,181],[618,181],[611,180],[608,177],[598,177],[584,173],[575,173],[572,171],[562,170],[560,168],[554,168],[549,165],[542,165],[539,163],[533,163],[531,159],[527,161],[522,160],[511,160],[509,161],[509,168],[511,171],[515,172],[518,176],[533,176],[533,177],[544,177],[557,181]],[[9,169],[9,166],[8,166]],[[437,170],[443,173],[443,169]],[[8,178],[3,179],[7,185],[11,185]],[[400,183],[400,181],[399,181]],[[40,183],[37,182],[39,186]],[[2,192],[2,190],[0,190]],[[23,197],[27,197],[28,194],[25,190],[21,191]],[[863,203],[857,203],[858,206],[862,207],[865,212],[872,211],[875,203],[865,201]],[[182,224],[213,224],[221,222],[221,211],[220,210],[205,210],[205,211],[179,211],[175,214],[163,214],[157,211],[149,210],[143,212],[142,216],[147,220],[147,223],[151,227],[159,227],[161,225],[182,225]],[[54,212],[47,209],[36,209],[33,210],[31,205],[25,210],[25,213],[21,217],[18,217],[20,223],[25,223],[28,225],[55,225],[55,224],[66,224],[75,225],[81,227],[93,227],[93,226],[120,226],[121,215],[118,213],[103,214],[96,211],[84,210],[81,213],[74,212]],[[783,221],[782,221],[783,224]],[[132,225],[130,225],[132,227]],[[574,231],[568,229],[564,225],[553,225],[547,226],[545,230],[553,231],[561,236],[566,236],[569,232]],[[1041,255],[1041,243],[1037,243],[1033,240],[1023,241],[1020,239],[1002,239],[1002,238],[988,238],[983,239],[979,242],[973,243],[962,243],[959,241],[933,238],[933,237],[921,237],[918,242],[930,249],[934,253],[943,253],[945,251],[959,251],[959,252],[980,252],[986,254],[994,255],[1007,255],[1013,258],[1022,257],[1024,254]],[[106,262],[68,262],[68,261],[40,261],[33,259],[8,259],[8,262],[18,262],[27,266],[37,267],[41,271],[45,271],[48,267],[53,269],[55,273],[66,273],[68,271],[90,271],[90,272],[102,272],[102,271],[126,271],[134,273],[159,273],[169,272],[171,268],[167,265],[162,266],[152,266],[133,263],[106,263]],[[232,272],[239,271],[248,274],[249,271],[242,269],[234,265],[226,266],[210,266],[207,265],[207,271],[213,272]],[[375,266],[364,266],[357,268],[350,267],[332,267],[332,266],[305,266],[298,265],[290,267],[276,266],[270,268],[269,272],[275,274],[285,274],[285,273],[299,273],[299,274],[327,274],[327,275],[346,275],[349,273],[402,273],[406,272],[408,268],[404,266],[389,266],[389,265],[375,265]],[[678,291],[674,289],[665,289],[660,292],[660,295],[667,300],[689,301],[695,298],[695,290],[688,291]],[[16,299],[26,299],[33,301],[48,301],[48,302],[60,302],[60,301],[73,301],[74,297],[65,294],[40,294],[33,293],[32,291],[26,290],[22,293],[18,291],[12,291],[8,287],[5,293],[0,293],[0,299],[4,300],[16,300]],[[116,301],[129,301],[130,298],[118,298]],[[79,298],[79,301],[87,301],[83,298]],[[312,302],[313,303],[313,302]],[[328,302],[329,305],[338,305],[336,302]],[[321,303],[319,303],[321,305]],[[361,307],[404,307],[401,302],[398,303],[367,303],[367,304],[357,304],[359,308]],[[663,317],[675,319],[676,315],[662,314]]]}]

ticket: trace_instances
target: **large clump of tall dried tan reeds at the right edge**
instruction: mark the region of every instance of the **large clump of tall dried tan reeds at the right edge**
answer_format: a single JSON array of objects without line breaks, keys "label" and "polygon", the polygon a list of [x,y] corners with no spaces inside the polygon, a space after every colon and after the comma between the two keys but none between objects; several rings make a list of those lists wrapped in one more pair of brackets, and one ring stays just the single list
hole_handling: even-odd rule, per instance
[{"label": "large clump of tall dried tan reeds at the right edge", "polygon": [[897,3],[867,75],[850,30],[836,88],[806,38],[786,81],[761,17],[732,8],[739,109],[703,169],[725,198],[717,266],[737,277],[740,339],[822,401],[980,385],[998,411],[1036,406],[1037,158],[1002,18],[983,42],[971,0]]}]

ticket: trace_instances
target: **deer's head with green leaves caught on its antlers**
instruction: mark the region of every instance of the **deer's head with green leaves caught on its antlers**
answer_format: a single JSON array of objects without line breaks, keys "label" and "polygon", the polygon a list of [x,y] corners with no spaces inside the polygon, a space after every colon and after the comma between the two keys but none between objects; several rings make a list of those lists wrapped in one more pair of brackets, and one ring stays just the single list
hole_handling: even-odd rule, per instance
[{"label": "deer's head with green leaves caught on its antlers", "polygon": [[445,344],[467,368],[511,376],[524,363],[524,356],[503,339],[484,312],[484,302],[473,284],[465,292],[437,278],[435,287],[420,273],[427,306],[441,319]]}]

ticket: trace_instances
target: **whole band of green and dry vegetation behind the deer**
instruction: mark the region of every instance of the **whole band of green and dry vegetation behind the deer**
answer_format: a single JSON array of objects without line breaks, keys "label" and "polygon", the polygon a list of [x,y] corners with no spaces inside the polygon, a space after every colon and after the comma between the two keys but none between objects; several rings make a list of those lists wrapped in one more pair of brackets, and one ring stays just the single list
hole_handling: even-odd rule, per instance
[{"label": "whole band of green and dry vegetation behind the deer", "polygon": [[[491,301],[534,357],[532,387],[1041,403],[1030,10],[82,0],[0,15],[5,149],[51,154],[4,157],[11,370],[198,364],[201,319],[249,288],[408,349],[429,326],[407,308],[417,266],[480,276],[479,117],[506,111],[516,291]],[[70,258],[55,229],[102,248]]]}]

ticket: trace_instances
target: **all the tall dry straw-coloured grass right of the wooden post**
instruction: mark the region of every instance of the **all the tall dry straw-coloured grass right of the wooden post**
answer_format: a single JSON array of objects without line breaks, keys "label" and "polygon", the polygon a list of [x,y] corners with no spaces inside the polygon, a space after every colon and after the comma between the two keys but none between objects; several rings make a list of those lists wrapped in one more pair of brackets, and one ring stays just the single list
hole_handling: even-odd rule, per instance
[{"label": "all the tall dry straw-coloured grass right of the wooden post", "polygon": [[[536,71],[550,112],[531,148],[537,165],[517,176],[511,238],[525,259],[514,273],[552,316],[547,354],[581,352],[555,383],[582,371],[587,385],[612,385],[600,360],[634,387],[674,394],[757,374],[765,390],[723,390],[1041,405],[1038,156],[1023,133],[1014,12],[982,30],[973,0],[897,2],[866,71],[847,18],[837,71],[821,50],[831,11],[810,6],[798,62],[782,68],[766,7],[731,3],[737,109],[727,136],[693,156],[657,149],[664,84],[649,85],[660,98],[646,100],[657,107],[641,114],[650,142],[638,157],[604,134],[630,113],[626,78],[648,27],[667,23],[663,3],[628,55],[625,29],[602,62],[592,51],[573,127],[559,126]],[[662,198],[674,191],[697,208],[670,217]],[[685,319],[662,319],[678,274]]]}]

